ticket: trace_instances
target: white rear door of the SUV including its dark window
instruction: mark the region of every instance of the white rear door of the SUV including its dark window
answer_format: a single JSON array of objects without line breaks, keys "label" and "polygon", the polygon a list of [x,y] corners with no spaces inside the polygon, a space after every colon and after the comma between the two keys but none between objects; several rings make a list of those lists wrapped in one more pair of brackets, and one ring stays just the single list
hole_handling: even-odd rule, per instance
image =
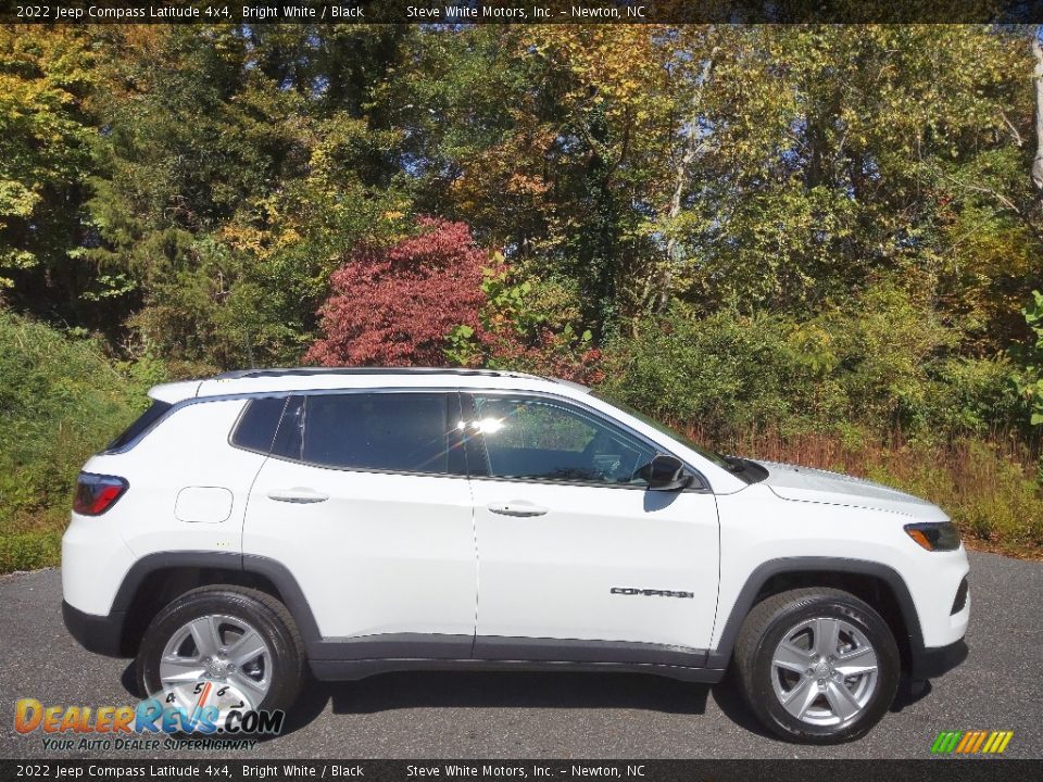
[{"label": "white rear door of the SUV including its dark window", "polygon": [[477,563],[458,420],[455,392],[287,404],[243,553],[289,568],[324,639],[363,642],[351,656],[417,656],[420,644],[423,656],[470,655]]}]

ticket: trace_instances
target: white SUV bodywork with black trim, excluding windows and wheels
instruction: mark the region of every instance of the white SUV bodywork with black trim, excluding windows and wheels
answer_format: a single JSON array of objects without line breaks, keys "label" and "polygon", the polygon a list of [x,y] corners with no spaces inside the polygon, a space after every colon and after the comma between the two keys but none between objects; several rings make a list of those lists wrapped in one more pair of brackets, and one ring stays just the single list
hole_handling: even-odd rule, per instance
[{"label": "white SUV bodywork with black trim, excluding windows and wheels", "polygon": [[[702,488],[332,469],[230,442],[251,399],[361,390],[556,401],[678,457]],[[969,597],[953,610],[968,573],[963,545],[927,551],[904,529],[947,520],[937,506],[803,467],[765,463],[767,477],[746,482],[573,383],[302,370],[171,383],[150,395],[174,406],[129,446],[84,467],[129,489],[101,516],[74,513],[65,533],[64,600],[78,636],[85,625],[122,627],[138,591],[159,589],[164,573],[216,562],[271,579],[319,678],[498,660],[716,681],[742,618],[787,573],[885,584],[913,658],[967,629]]]}]

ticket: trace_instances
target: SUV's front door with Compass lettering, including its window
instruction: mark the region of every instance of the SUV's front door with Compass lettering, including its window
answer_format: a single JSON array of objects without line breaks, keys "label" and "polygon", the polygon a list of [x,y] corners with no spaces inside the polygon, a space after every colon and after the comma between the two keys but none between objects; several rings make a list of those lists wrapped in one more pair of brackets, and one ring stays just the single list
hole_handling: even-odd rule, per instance
[{"label": "SUV's front door with Compass lettering, including its window", "polygon": [[[470,401],[473,399],[473,402]],[[714,495],[649,491],[654,444],[578,403],[465,395],[478,541],[475,654],[703,665]]]}]

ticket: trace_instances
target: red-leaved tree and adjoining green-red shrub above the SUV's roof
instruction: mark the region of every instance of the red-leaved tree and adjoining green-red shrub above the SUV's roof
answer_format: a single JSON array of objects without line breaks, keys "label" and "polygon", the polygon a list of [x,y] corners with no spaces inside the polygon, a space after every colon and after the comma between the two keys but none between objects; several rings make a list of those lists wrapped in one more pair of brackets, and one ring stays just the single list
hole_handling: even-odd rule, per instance
[{"label": "red-leaved tree and adjoining green-red shrub above the SUV's roof", "polygon": [[490,366],[583,382],[601,379],[590,333],[532,308],[502,257],[465,223],[424,218],[416,236],[365,247],[331,278],[323,337],[306,361],[325,366]]}]

